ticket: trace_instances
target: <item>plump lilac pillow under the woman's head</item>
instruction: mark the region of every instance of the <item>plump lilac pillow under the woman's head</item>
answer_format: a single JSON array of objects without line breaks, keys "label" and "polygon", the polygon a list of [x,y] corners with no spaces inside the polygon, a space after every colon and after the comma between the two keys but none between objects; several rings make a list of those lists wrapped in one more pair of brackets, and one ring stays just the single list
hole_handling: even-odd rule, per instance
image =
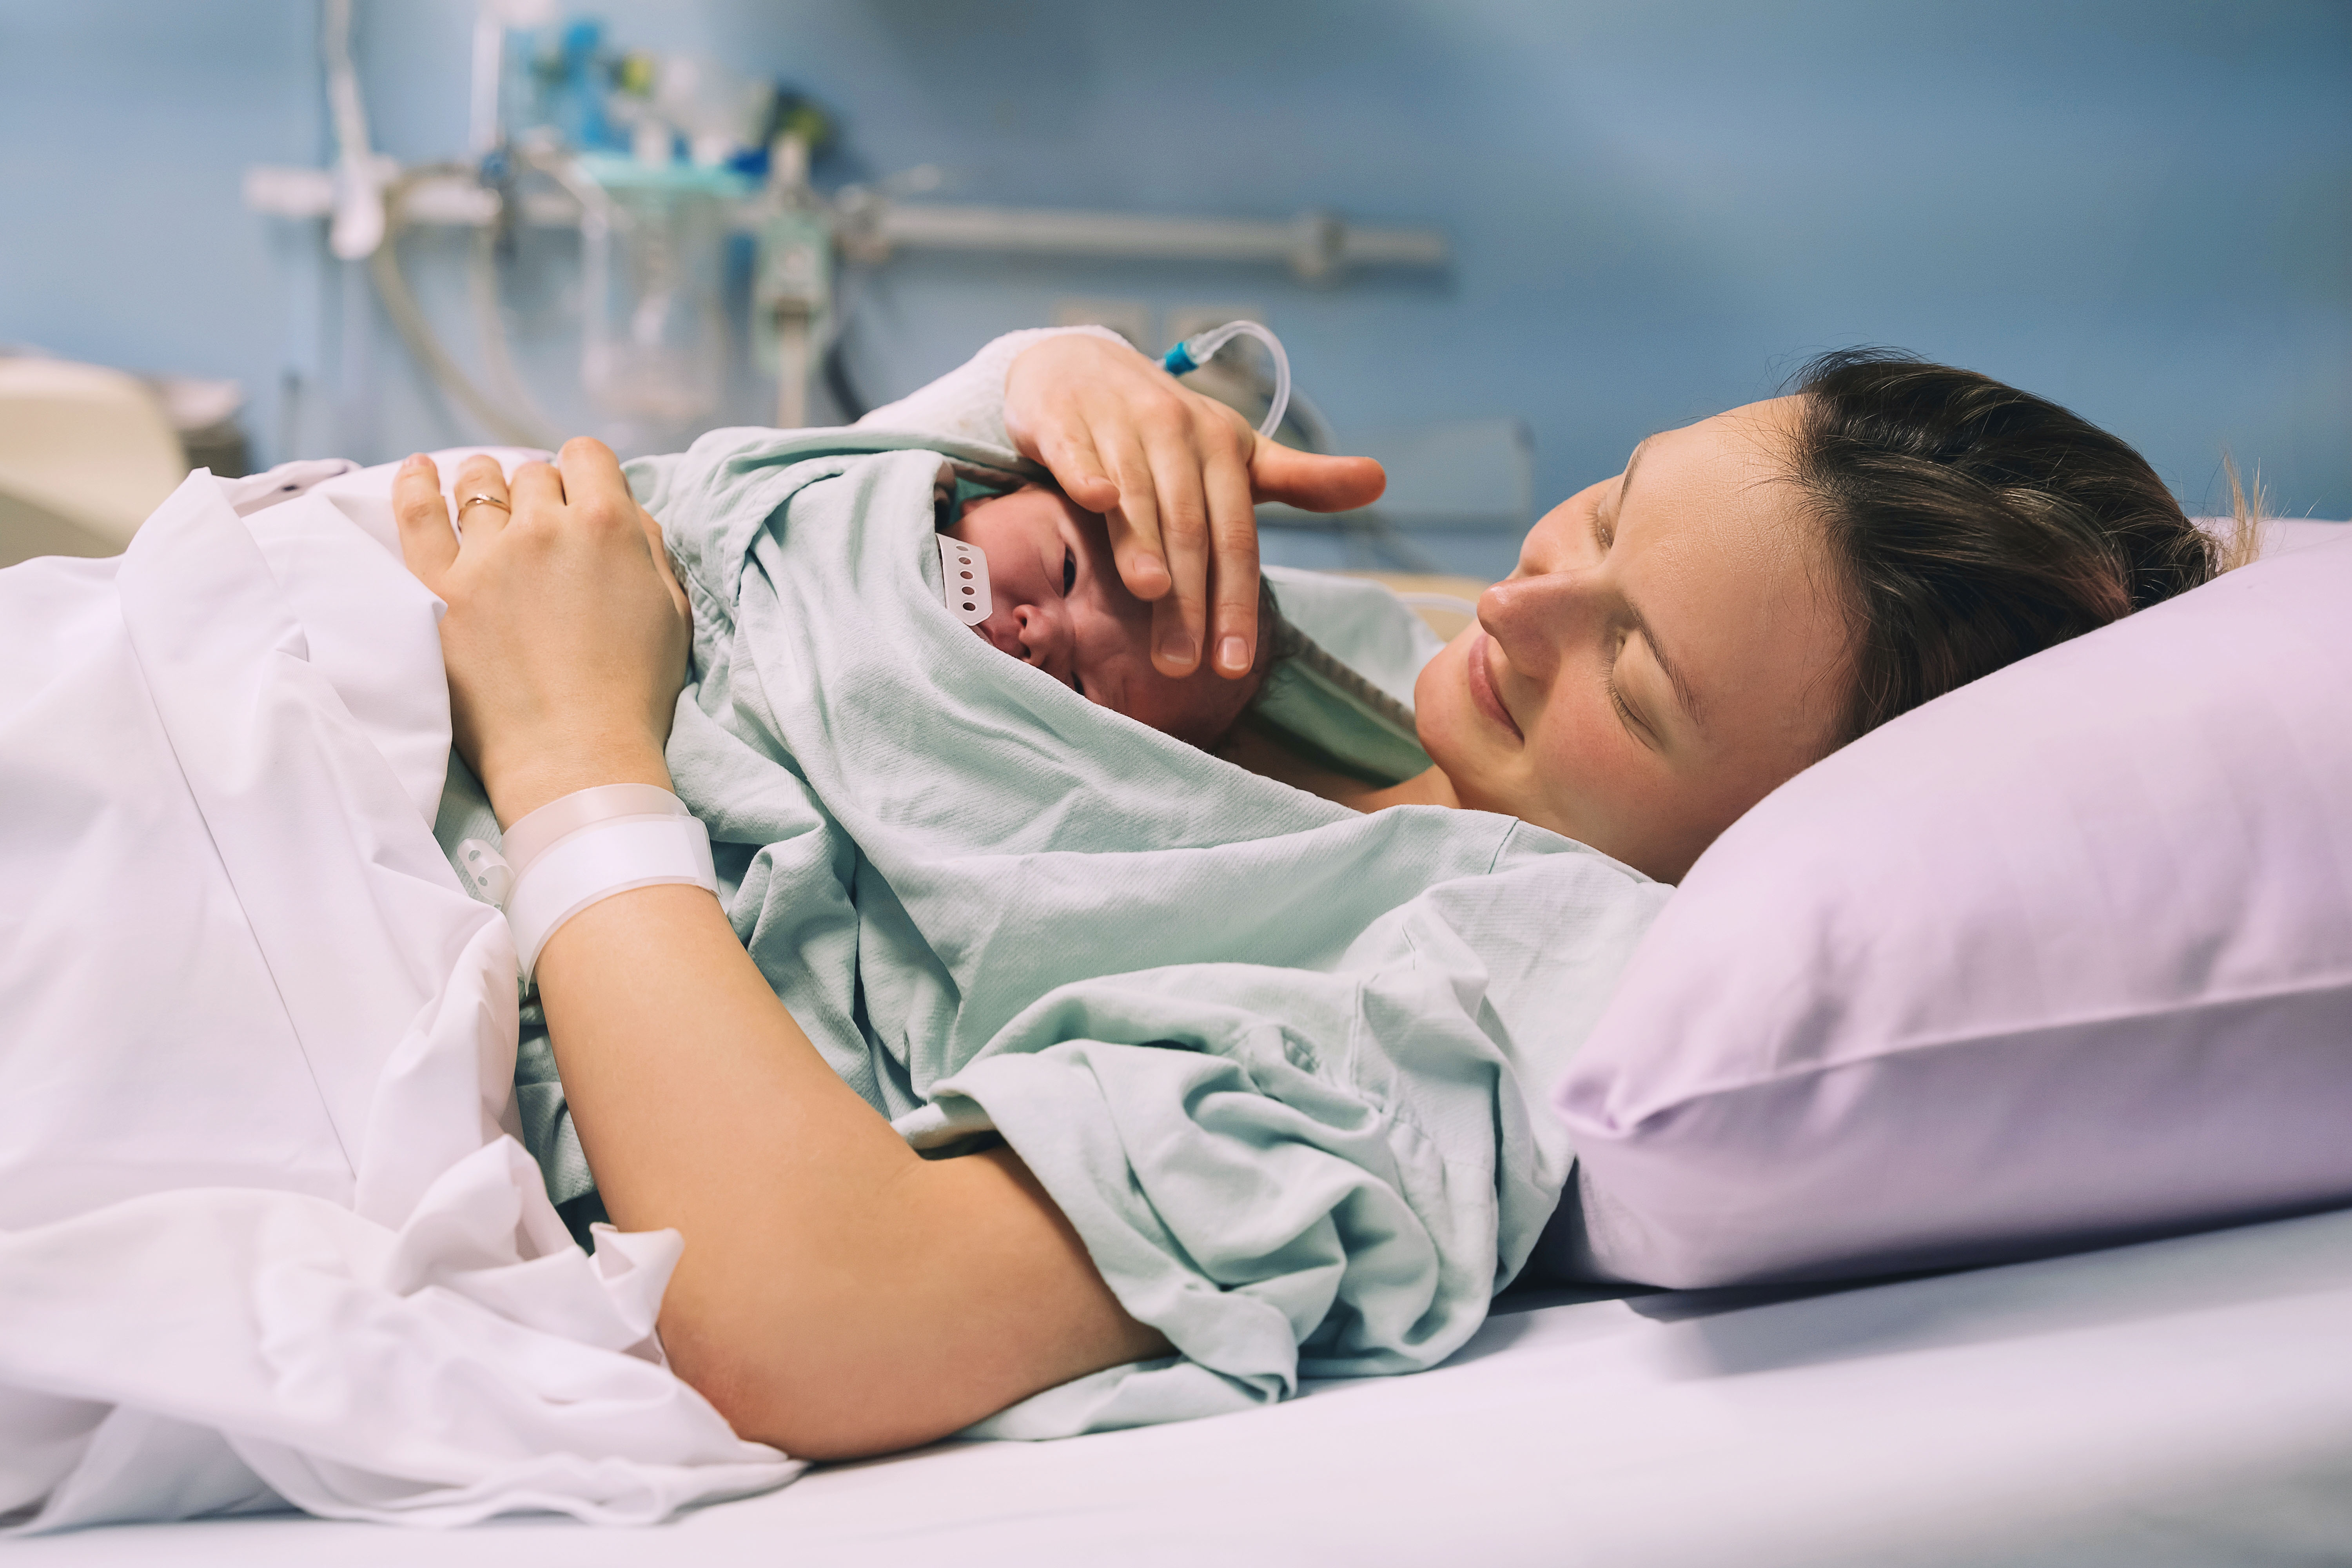
[{"label": "plump lilac pillow under the woman's head", "polygon": [[2352,538],[2293,543],[1700,856],[1555,1095],[1585,1272],[1849,1279],[2352,1201]]}]

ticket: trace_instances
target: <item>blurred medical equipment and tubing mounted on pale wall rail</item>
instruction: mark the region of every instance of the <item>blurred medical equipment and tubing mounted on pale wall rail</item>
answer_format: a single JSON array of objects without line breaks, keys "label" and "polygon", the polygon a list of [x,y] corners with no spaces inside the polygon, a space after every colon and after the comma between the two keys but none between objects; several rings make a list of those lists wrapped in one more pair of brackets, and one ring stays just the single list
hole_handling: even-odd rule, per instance
[{"label": "blurred medical equipment and tubing mounted on pale wall rail", "polygon": [[[515,256],[522,226],[579,228],[581,381],[623,440],[654,444],[699,433],[724,400],[736,235],[753,242],[750,346],[774,378],[781,428],[809,423],[816,386],[849,402],[837,280],[906,249],[1277,263],[1308,282],[1449,261],[1435,230],[1362,228],[1329,212],[1279,221],[906,202],[941,183],[931,167],[818,190],[809,165],[833,127],[811,99],[717,61],[616,54],[595,21],[553,24],[553,0],[482,0],[468,158],[402,167],[369,141],[353,0],[322,0],[334,165],[245,176],[249,209],[329,221],[329,252],[369,263],[409,353],[496,440],[553,444],[560,435],[515,374],[499,299],[499,266]],[[477,235],[468,249],[475,369],[442,343],[402,270],[402,233],[435,226]]]}]

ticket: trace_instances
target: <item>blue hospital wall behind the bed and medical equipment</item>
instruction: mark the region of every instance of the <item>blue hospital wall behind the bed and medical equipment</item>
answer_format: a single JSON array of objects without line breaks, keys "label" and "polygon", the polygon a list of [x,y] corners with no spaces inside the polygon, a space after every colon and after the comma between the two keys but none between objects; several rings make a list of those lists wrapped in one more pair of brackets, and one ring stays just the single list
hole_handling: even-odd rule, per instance
[{"label": "blue hospital wall behind the bed and medical equipment", "polygon": [[[870,400],[1063,296],[1261,306],[1331,423],[1524,418],[1538,498],[1644,433],[1896,343],[2352,512],[2352,7],[2169,0],[614,0],[621,45],[837,108],[826,179],[943,200],[1432,223],[1444,277],[906,256],[866,280]],[[466,0],[360,0],[376,141],[463,143]],[[0,0],[0,341],[254,395],[263,458],[466,440],[247,162],[327,153],[303,0]],[[423,242],[428,299],[459,299]],[[560,299],[524,301],[555,334]],[[447,317],[452,334],[463,324]],[[529,331],[527,331],[529,336]],[[534,348],[567,404],[560,334]],[[757,418],[757,402],[731,409]],[[1498,569],[1503,559],[1472,562]]]}]

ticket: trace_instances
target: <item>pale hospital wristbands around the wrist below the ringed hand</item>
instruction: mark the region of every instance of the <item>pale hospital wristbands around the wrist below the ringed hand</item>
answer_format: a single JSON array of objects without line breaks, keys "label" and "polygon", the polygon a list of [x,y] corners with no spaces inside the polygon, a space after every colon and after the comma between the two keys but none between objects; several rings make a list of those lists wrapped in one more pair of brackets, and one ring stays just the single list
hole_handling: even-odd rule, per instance
[{"label": "pale hospital wristbands around the wrist below the ringed hand", "polygon": [[548,938],[597,900],[673,882],[720,891],[710,830],[654,785],[597,785],[553,799],[506,830],[503,856],[477,839],[459,849],[466,875],[506,910],[524,980]]}]

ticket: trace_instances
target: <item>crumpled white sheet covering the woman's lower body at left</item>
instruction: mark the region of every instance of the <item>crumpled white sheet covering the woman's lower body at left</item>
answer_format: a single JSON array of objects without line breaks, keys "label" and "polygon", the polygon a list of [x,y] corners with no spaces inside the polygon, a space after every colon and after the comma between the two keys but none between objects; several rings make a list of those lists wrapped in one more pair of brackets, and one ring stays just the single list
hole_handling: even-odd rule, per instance
[{"label": "crumpled white sheet covering the woman's lower body at left", "polygon": [[581,1253],[508,1135],[437,611],[367,496],[202,470],[0,574],[0,1528],[652,1523],[797,1469],[661,1366],[675,1232]]}]

